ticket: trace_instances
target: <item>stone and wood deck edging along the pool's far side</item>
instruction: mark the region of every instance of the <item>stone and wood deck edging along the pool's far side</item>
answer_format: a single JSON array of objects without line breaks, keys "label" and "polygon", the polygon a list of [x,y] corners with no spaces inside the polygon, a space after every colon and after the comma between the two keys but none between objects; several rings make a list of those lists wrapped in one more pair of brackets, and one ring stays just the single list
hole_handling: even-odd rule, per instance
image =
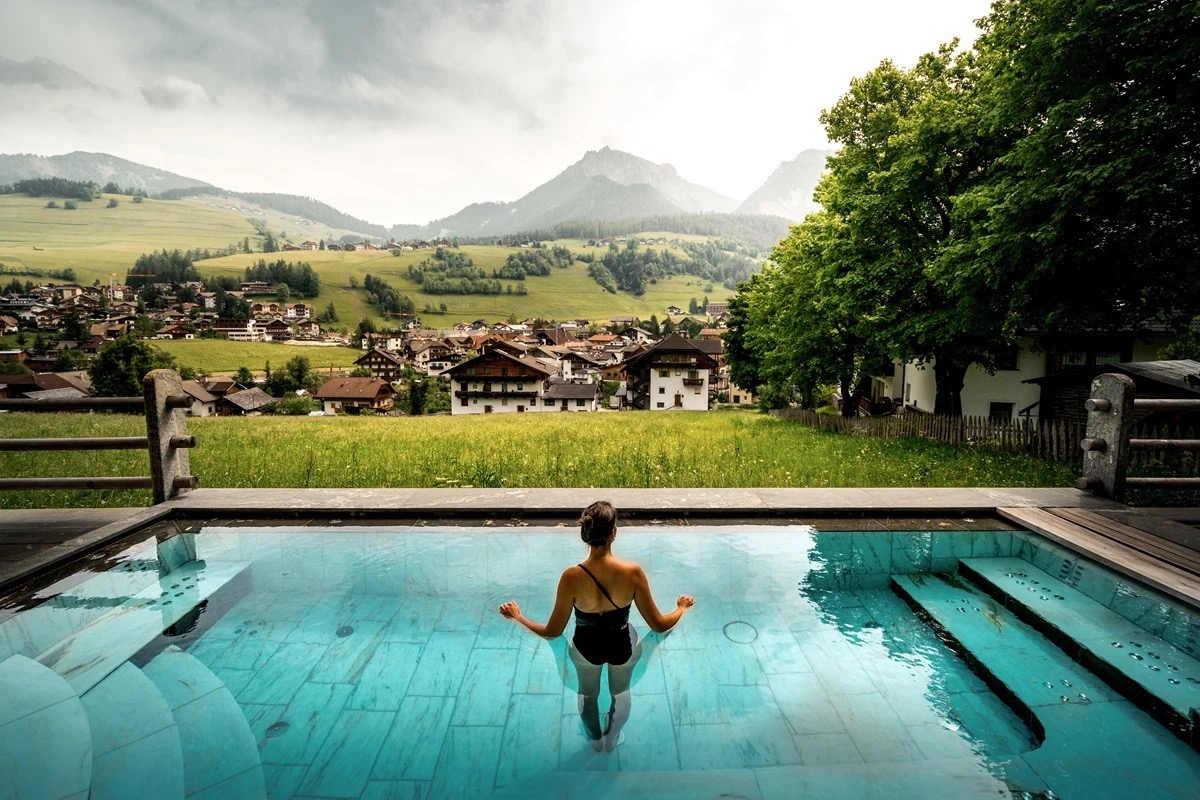
[{"label": "stone and wood deck edging along the pool's far side", "polygon": [[637,522],[770,519],[820,529],[1027,528],[1200,607],[1196,510],[1138,510],[1073,488],[197,489],[145,509],[0,510],[0,590],[167,519],[574,523],[607,499]]}]

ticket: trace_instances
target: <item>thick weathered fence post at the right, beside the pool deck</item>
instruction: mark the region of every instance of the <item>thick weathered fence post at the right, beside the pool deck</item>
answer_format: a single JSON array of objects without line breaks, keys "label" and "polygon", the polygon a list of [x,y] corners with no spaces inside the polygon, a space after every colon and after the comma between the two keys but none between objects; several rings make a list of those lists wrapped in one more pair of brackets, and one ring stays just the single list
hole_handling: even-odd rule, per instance
[{"label": "thick weathered fence post at the right, beside the pool deck", "polygon": [[1084,477],[1079,488],[1124,503],[1129,469],[1129,428],[1134,383],[1106,373],[1092,381],[1087,401],[1087,438],[1082,440]]}]

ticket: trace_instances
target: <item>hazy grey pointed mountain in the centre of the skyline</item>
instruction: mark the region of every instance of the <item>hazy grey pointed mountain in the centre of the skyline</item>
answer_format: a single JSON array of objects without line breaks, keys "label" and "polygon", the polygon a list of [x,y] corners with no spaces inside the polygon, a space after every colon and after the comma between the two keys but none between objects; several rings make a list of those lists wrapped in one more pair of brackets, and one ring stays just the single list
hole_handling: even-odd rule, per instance
[{"label": "hazy grey pointed mountain in the centre of the skyline", "polygon": [[589,150],[583,158],[512,203],[473,203],[434,219],[436,233],[486,236],[552,227],[569,219],[725,212],[734,200],[690,184],[670,164],[619,150]]}]

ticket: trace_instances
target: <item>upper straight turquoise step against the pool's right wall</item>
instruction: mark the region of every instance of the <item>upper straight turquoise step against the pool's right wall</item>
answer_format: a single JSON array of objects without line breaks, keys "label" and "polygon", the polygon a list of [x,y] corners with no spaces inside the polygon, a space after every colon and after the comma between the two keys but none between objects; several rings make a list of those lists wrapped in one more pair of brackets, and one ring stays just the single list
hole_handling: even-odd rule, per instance
[{"label": "upper straight turquoise step against the pool's right wall", "polygon": [[1022,559],[962,559],[959,569],[1194,747],[1200,745],[1200,661]]}]

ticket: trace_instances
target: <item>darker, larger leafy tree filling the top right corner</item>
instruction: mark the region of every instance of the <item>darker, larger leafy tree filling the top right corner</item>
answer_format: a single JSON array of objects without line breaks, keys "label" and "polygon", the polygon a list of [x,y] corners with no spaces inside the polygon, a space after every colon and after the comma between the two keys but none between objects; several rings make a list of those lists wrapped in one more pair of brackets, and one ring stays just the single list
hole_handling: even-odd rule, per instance
[{"label": "darker, larger leafy tree filling the top right corner", "polygon": [[1001,0],[979,98],[995,168],[959,199],[942,271],[1052,348],[1182,331],[1200,307],[1200,35],[1194,4]]}]

